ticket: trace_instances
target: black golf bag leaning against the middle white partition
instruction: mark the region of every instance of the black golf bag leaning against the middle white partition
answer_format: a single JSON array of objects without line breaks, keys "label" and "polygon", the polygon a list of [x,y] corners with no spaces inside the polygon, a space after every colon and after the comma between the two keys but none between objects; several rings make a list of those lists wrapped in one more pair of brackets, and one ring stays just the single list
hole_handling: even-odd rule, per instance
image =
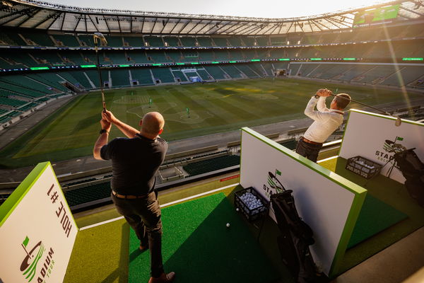
[{"label": "black golf bag leaning against the middle white partition", "polygon": [[314,282],[316,268],[309,246],[314,243],[312,229],[298,215],[292,190],[284,190],[271,195],[271,203],[276,215],[281,236],[278,248],[281,259],[295,277],[296,282]]}]

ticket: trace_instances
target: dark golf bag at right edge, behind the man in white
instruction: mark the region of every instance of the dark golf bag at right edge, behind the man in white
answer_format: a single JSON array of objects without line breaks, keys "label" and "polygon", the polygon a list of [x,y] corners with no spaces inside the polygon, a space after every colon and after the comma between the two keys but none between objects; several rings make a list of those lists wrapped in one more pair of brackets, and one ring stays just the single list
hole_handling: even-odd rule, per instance
[{"label": "dark golf bag at right edge, behind the man in white", "polygon": [[424,207],[424,163],[420,161],[414,149],[394,154],[394,160],[396,168],[399,168],[406,179],[405,187],[409,195]]}]

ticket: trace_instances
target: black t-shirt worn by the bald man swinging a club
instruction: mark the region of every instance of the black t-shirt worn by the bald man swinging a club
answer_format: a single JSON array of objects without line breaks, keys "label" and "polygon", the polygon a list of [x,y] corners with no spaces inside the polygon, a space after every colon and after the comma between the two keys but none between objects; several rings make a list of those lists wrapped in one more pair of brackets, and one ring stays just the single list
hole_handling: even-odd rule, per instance
[{"label": "black t-shirt worn by the bald man swinging a club", "polygon": [[147,139],[116,138],[100,149],[102,159],[112,159],[112,190],[121,195],[145,195],[155,187],[155,175],[165,159],[167,142],[158,137]]}]

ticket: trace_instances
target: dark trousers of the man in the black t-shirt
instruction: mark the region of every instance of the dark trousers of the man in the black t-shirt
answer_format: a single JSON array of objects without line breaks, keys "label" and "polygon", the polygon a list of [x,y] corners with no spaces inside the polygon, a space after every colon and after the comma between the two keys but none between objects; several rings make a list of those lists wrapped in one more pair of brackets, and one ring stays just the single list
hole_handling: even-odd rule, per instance
[{"label": "dark trousers of the man in the black t-shirt", "polygon": [[162,221],[160,207],[155,192],[135,200],[124,200],[112,194],[112,201],[119,214],[124,216],[134,229],[141,245],[151,253],[151,276],[160,277],[163,273],[162,261]]}]

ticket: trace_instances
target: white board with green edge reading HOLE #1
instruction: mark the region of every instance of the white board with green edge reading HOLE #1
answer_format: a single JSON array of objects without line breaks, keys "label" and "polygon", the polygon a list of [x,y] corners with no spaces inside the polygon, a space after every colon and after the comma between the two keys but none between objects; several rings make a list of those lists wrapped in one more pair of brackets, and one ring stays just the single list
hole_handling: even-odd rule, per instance
[{"label": "white board with green edge reading HOLE #1", "polygon": [[0,282],[63,282],[78,228],[49,162],[0,207]]}]

